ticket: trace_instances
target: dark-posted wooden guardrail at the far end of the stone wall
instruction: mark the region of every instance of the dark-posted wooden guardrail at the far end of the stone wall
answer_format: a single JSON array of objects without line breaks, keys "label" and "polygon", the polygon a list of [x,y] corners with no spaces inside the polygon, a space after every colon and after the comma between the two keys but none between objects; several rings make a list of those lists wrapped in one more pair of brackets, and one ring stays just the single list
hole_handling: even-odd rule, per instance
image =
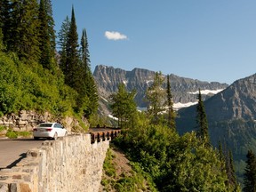
[{"label": "dark-posted wooden guardrail at the far end of the stone wall", "polygon": [[121,133],[121,129],[115,127],[97,126],[90,128],[88,132],[91,134],[91,142],[95,143],[96,140],[97,142],[100,142],[100,140],[113,140],[118,134]]}]

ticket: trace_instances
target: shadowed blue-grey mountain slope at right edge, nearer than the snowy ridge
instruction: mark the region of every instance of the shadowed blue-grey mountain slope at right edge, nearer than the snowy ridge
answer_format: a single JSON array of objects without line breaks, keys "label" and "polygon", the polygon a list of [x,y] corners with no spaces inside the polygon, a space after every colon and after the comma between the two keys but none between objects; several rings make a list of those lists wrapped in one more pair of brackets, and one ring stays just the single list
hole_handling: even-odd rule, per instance
[{"label": "shadowed blue-grey mountain slope at right edge, nearer than the snowy ridge", "polygon": [[[256,74],[237,80],[205,100],[204,108],[212,144],[217,147],[221,141],[231,149],[236,165],[245,160],[249,149],[256,152]],[[196,130],[196,106],[180,109],[178,116],[180,134]],[[237,165],[237,172],[243,170]],[[243,175],[238,176],[243,179]]]}]

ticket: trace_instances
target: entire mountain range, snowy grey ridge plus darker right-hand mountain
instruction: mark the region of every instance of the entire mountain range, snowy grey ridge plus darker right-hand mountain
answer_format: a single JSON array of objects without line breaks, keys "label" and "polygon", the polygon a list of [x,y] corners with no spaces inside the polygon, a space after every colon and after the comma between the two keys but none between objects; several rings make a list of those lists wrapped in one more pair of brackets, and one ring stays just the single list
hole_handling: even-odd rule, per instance
[{"label": "entire mountain range, snowy grey ridge plus darker right-hand mountain", "polygon": [[[128,91],[135,89],[137,106],[146,108],[145,92],[153,82],[155,73],[142,68],[125,71],[121,68],[97,66],[93,76],[98,84],[102,115],[110,115],[108,97],[117,91],[120,83],[126,84]],[[177,109],[177,131],[180,134],[196,131],[195,104],[200,89],[212,145],[217,148],[221,142],[227,150],[233,152],[236,173],[242,181],[247,151],[252,149],[256,152],[256,74],[236,80],[230,85],[171,74],[170,84],[174,108]]]}]

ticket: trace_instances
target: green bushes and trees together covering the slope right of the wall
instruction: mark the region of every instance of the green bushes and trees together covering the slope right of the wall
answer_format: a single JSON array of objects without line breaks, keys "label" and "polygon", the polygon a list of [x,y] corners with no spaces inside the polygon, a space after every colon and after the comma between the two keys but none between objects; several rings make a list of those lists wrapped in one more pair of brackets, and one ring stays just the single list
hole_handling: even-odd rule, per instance
[{"label": "green bushes and trees together covering the slope right of the wall", "polygon": [[[134,94],[120,84],[118,92],[111,95],[113,114],[118,116],[122,127],[122,135],[114,144],[132,164],[140,167],[156,191],[241,191],[232,156],[223,156],[221,147],[213,148],[210,144],[200,90],[195,119],[197,131],[182,136],[175,129],[175,112],[172,102],[168,102],[172,92],[170,87],[163,87],[161,73],[156,73],[153,84],[148,87],[147,111],[136,110]],[[167,113],[164,112],[166,103],[170,104]]]}]

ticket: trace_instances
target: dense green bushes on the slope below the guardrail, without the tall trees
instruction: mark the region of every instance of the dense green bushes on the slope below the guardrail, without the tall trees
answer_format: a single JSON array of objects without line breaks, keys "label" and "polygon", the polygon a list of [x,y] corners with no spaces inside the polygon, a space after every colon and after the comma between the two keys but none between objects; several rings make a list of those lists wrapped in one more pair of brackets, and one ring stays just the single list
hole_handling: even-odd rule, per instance
[{"label": "dense green bushes on the slope below the guardrail, without the tall trees", "polygon": [[148,172],[159,191],[228,191],[218,152],[198,140],[196,132],[180,137],[167,125],[148,124],[141,116],[115,142]]}]

